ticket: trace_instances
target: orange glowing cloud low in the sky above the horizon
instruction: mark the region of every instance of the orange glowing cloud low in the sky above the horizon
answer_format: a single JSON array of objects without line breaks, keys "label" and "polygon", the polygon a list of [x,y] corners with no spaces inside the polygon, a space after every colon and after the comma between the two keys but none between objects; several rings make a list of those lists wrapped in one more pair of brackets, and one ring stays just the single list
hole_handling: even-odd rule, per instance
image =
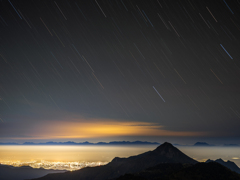
[{"label": "orange glowing cloud low in the sky above the horizon", "polygon": [[75,139],[113,136],[204,136],[201,132],[170,131],[150,122],[127,122],[109,119],[45,121],[14,139]]}]

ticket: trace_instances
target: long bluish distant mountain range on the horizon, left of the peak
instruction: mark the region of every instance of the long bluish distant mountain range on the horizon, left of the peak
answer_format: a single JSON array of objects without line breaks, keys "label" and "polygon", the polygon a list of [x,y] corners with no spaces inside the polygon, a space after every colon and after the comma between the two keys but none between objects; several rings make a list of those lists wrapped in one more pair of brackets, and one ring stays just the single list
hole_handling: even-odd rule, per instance
[{"label": "long bluish distant mountain range on the horizon, left of the peak", "polygon": [[46,143],[34,143],[34,142],[25,142],[23,144],[19,143],[1,143],[0,145],[159,145],[157,142],[148,142],[148,141],[111,141],[111,142],[98,142],[98,143],[91,143],[88,141],[85,142],[73,142],[73,141],[67,141],[67,142],[46,142]]}]

